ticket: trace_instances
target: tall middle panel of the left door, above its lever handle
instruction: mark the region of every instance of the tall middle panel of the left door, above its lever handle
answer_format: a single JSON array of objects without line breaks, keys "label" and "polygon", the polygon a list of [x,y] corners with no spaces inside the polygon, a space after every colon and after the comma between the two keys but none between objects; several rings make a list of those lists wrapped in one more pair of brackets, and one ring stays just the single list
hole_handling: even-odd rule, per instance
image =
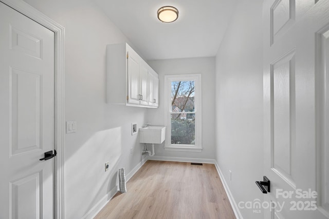
[{"label": "tall middle panel of the left door, above its lever handle", "polygon": [[[42,147],[42,75],[10,67],[10,156],[41,150]],[[30,83],[30,86],[27,84]],[[25,88],[24,88],[24,85]],[[30,89],[29,89],[30,88]],[[35,94],[34,96],[32,96]],[[32,96],[30,98],[29,96]],[[24,102],[34,106],[26,108]],[[24,111],[19,107],[24,105]],[[30,112],[36,112],[30,113]],[[31,127],[22,126],[21,120],[29,121]]]}]

